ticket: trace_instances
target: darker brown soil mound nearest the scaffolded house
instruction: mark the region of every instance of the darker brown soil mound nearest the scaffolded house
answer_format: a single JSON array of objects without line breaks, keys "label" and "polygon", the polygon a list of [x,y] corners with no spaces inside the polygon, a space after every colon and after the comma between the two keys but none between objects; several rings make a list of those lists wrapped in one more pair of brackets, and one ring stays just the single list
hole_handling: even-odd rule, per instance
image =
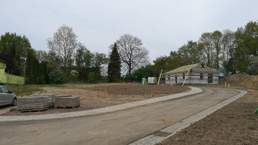
[{"label": "darker brown soil mound nearest the scaffolded house", "polygon": [[235,74],[235,75],[231,75],[231,76],[226,76],[224,77],[221,81],[219,81],[219,83],[217,83],[218,85],[225,85],[225,82],[227,82],[227,85],[237,85],[242,83],[245,79],[251,78],[250,75],[246,74],[246,73],[241,73],[241,74]]}]

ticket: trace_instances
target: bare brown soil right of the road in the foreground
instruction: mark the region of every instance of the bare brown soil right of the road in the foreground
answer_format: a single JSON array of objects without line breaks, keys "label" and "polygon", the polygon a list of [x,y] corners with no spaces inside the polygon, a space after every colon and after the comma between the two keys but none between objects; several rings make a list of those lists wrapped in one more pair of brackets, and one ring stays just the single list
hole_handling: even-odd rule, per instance
[{"label": "bare brown soil right of the road in the foreground", "polygon": [[258,90],[244,90],[248,93],[243,97],[184,128],[158,145],[257,144],[258,120],[255,119],[257,114],[254,114],[254,111],[258,107]]}]

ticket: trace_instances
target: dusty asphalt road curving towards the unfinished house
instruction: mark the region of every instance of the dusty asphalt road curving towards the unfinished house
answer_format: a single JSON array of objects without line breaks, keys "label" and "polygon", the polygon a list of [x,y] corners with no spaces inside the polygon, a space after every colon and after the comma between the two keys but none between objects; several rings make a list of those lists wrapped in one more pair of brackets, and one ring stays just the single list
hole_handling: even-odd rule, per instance
[{"label": "dusty asphalt road curving towards the unfinished house", "polygon": [[201,89],[201,93],[98,115],[0,122],[0,142],[126,145],[239,93],[219,88]]}]

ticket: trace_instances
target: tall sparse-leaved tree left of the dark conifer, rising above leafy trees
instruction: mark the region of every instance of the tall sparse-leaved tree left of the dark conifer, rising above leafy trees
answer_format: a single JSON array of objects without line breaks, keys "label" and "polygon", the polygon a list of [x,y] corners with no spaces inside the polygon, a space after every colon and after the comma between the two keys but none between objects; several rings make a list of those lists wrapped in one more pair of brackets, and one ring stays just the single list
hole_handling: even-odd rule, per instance
[{"label": "tall sparse-leaved tree left of the dark conifer, rising above leafy trees", "polygon": [[77,38],[72,27],[61,25],[54,33],[53,38],[46,39],[47,47],[58,55],[65,73],[68,61],[71,60],[77,48]]}]

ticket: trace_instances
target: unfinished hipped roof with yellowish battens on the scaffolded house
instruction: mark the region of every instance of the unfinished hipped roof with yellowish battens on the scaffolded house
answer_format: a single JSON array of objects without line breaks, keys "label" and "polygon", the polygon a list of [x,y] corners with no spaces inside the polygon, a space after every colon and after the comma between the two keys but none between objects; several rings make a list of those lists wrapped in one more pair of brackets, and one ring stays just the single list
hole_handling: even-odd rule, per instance
[{"label": "unfinished hipped roof with yellowish battens on the scaffolded house", "polygon": [[173,73],[180,73],[180,72],[187,72],[189,69],[192,69],[192,71],[205,71],[205,72],[214,72],[214,73],[218,73],[220,71],[204,66],[202,67],[200,63],[196,63],[196,64],[192,64],[192,65],[187,65],[187,66],[182,66],[180,68],[168,71],[165,74],[173,74]]}]

